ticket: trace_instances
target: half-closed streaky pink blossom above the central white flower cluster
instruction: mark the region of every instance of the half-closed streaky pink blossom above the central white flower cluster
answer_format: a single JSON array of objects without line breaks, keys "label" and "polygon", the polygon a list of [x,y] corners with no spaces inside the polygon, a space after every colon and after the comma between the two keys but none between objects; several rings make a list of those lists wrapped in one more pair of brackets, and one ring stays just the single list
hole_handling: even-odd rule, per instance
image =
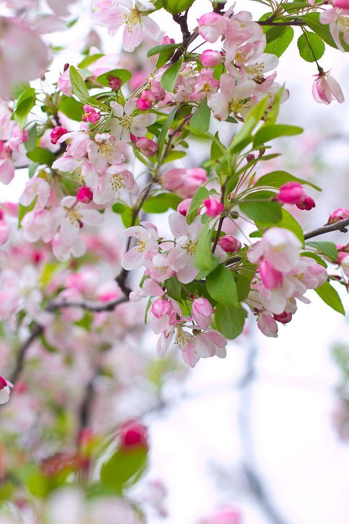
[{"label": "half-closed streaky pink blossom above the central white flower cluster", "polygon": [[181,198],[192,198],[196,190],[207,182],[207,172],[202,168],[170,169],[160,177],[160,184],[167,191],[173,191]]}]

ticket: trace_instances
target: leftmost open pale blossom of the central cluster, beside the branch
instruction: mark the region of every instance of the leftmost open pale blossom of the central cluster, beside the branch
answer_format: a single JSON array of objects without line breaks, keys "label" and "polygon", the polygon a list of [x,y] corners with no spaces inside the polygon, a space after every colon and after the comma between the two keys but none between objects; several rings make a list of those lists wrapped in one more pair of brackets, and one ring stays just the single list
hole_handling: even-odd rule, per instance
[{"label": "leftmost open pale blossom of the central cluster, beside the branch", "polygon": [[132,226],[121,233],[122,238],[130,236],[137,239],[136,246],[131,247],[131,249],[123,255],[121,260],[121,267],[128,271],[143,266],[144,255],[148,252],[154,254],[159,252],[159,244],[157,243],[159,235],[157,234],[156,227],[143,227],[142,225]]}]

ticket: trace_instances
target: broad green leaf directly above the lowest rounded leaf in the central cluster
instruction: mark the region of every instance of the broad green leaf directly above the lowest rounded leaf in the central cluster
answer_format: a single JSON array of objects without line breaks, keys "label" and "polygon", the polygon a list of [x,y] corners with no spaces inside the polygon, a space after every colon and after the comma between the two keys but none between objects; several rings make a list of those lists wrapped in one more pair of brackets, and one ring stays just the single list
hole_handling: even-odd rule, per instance
[{"label": "broad green leaf directly above the lowest rounded leaf in the central cluster", "polygon": [[220,264],[206,277],[207,291],[219,304],[238,305],[238,291],[229,269]]}]

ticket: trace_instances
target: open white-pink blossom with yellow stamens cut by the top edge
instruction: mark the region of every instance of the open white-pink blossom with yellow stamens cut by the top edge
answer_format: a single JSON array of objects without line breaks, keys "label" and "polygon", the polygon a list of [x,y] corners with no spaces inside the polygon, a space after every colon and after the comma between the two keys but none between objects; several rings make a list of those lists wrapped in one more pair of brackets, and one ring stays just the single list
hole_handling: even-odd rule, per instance
[{"label": "open white-pink blossom with yellow stamens cut by the top edge", "polygon": [[97,9],[93,15],[94,23],[97,26],[107,27],[111,36],[115,35],[117,30],[125,24],[122,46],[128,52],[133,52],[140,45],[143,31],[152,40],[160,41],[160,28],[148,16],[148,13],[155,9],[153,4],[145,0],[136,0],[134,7],[131,0],[122,3],[127,7],[117,7],[114,4],[104,6],[95,1],[95,5],[100,9]]}]

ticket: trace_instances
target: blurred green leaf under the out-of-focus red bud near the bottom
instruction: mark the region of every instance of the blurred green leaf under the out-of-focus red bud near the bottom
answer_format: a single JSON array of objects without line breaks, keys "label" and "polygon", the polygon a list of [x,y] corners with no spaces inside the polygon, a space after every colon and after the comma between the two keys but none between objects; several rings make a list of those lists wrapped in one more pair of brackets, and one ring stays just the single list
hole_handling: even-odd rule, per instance
[{"label": "blurred green leaf under the out-of-focus red bud near the bottom", "polygon": [[100,479],[106,486],[121,493],[134,484],[147,468],[147,450],[136,447],[130,450],[118,450],[100,469]]}]

